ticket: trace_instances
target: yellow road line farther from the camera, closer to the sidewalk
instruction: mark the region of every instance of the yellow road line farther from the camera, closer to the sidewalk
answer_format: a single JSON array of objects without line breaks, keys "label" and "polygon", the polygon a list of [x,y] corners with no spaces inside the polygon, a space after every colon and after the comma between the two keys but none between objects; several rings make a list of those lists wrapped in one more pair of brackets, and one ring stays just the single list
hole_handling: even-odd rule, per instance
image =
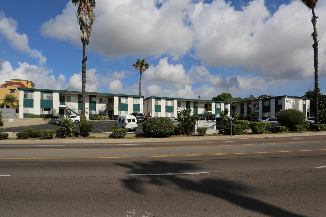
[{"label": "yellow road line farther from the camera, closer to the sidewalk", "polygon": [[[313,142],[326,142],[326,141],[313,141]],[[243,146],[243,145],[272,145],[272,144],[290,144],[290,143],[298,143],[298,142],[274,142],[274,143],[253,143],[253,144],[234,144],[234,145],[196,145],[196,146],[177,146],[177,147],[144,147],[144,148],[0,149],[0,151],[133,150],[133,149],[201,148],[201,147]],[[300,142],[300,143],[312,143],[312,142]]]}]

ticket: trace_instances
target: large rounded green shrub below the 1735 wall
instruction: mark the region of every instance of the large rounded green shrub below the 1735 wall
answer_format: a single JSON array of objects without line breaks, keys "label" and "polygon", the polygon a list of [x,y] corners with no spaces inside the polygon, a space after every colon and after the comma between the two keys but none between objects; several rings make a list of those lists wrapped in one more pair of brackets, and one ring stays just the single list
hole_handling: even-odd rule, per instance
[{"label": "large rounded green shrub below the 1735 wall", "polygon": [[276,117],[282,126],[291,129],[294,125],[301,125],[305,120],[305,113],[297,109],[284,109]]}]

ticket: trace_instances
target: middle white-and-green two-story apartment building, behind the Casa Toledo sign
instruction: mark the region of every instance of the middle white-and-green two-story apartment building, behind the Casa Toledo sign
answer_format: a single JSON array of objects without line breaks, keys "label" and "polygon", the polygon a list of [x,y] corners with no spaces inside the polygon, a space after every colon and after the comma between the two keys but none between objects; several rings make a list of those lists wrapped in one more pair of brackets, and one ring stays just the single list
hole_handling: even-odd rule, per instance
[{"label": "middle white-and-green two-story apartment building, behind the Casa Toledo sign", "polygon": [[221,109],[230,110],[230,104],[231,102],[150,96],[143,100],[143,110],[145,115],[153,117],[177,117],[182,109],[191,109],[192,114],[219,116]]}]

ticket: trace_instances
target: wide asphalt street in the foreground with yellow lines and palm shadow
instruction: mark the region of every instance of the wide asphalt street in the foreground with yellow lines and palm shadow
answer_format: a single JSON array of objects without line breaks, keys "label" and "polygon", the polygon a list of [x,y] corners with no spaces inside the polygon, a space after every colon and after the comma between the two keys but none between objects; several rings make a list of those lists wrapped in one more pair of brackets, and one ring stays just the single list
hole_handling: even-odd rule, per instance
[{"label": "wide asphalt street in the foreground with yellow lines and palm shadow", "polygon": [[1,144],[1,216],[325,216],[326,136],[126,142]]}]

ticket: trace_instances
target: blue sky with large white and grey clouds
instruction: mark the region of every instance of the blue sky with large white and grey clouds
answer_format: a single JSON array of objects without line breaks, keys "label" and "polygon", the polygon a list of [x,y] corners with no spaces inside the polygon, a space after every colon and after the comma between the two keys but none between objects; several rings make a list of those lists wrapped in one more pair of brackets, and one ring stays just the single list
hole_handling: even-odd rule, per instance
[{"label": "blue sky with large white and grey clouds", "polygon": [[[316,8],[319,88],[326,93],[326,1]],[[81,91],[82,43],[71,1],[2,0],[0,83]],[[288,0],[96,1],[86,91],[211,100],[303,96],[314,88],[311,11]]]}]

